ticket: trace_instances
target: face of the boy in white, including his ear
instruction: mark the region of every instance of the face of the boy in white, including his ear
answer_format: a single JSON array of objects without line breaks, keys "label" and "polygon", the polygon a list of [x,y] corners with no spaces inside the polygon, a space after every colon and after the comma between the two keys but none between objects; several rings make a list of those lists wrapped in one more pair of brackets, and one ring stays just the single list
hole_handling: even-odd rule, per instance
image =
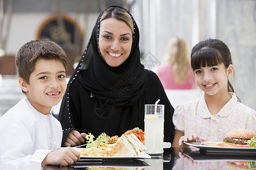
[{"label": "face of the boy in white, including his ear", "polygon": [[19,83],[31,105],[40,113],[49,114],[65,94],[65,67],[59,60],[38,59],[29,84],[23,78],[19,78]]}]

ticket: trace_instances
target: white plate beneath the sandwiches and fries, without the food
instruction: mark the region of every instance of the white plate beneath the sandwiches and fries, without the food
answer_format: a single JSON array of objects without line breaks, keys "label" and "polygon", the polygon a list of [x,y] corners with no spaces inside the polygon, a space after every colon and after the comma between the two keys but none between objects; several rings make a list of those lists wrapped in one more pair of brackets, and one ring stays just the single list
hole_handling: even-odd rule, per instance
[{"label": "white plate beneath the sandwiches and fries, without the food", "polygon": [[[83,148],[74,148],[76,150],[82,150]],[[80,156],[85,159],[151,159],[151,156],[146,152],[141,152],[139,156]]]}]

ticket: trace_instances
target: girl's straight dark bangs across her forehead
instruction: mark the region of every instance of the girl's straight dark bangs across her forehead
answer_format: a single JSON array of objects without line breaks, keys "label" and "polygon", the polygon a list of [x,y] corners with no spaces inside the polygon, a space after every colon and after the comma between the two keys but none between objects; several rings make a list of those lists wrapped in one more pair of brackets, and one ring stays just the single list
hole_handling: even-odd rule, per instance
[{"label": "girl's straight dark bangs across her forehead", "polygon": [[216,66],[221,63],[221,58],[217,50],[212,48],[203,48],[193,53],[191,56],[191,67],[193,70],[200,69],[201,67]]}]

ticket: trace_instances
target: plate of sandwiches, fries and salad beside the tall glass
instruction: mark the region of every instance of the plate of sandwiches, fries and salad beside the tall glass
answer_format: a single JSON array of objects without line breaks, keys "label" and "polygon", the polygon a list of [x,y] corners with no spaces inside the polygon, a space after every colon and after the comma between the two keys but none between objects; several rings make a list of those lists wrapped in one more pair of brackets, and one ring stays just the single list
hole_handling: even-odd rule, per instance
[{"label": "plate of sandwiches, fries and salad beside the tall glass", "polygon": [[102,133],[96,140],[89,133],[85,137],[86,148],[73,148],[79,151],[81,159],[151,159],[151,156],[144,152],[146,146],[143,144],[144,135],[141,132],[140,129],[133,129],[121,137],[109,137]]}]

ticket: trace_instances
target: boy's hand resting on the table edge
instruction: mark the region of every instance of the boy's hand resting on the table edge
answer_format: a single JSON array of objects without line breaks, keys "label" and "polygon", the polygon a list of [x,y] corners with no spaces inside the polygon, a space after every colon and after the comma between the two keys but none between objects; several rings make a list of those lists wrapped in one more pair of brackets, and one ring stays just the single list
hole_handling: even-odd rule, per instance
[{"label": "boy's hand resting on the table edge", "polygon": [[45,165],[69,166],[80,160],[80,154],[71,147],[60,148],[59,150],[49,152],[42,162]]}]

